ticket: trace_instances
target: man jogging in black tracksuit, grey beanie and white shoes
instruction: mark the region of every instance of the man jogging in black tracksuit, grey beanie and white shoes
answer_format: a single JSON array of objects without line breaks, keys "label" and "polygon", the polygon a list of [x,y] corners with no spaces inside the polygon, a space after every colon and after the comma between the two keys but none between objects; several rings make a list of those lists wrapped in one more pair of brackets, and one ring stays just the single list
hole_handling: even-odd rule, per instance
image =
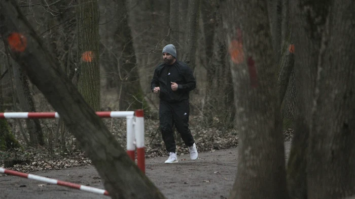
[{"label": "man jogging in black tracksuit, grey beanie and white shoes", "polygon": [[164,63],[157,66],[151,81],[151,89],[159,93],[159,121],[166,151],[165,163],[177,163],[176,145],[172,126],[181,134],[189,147],[191,160],[198,157],[195,140],[189,128],[189,92],[196,87],[192,69],[176,60],[176,49],[172,44],[163,48]]}]

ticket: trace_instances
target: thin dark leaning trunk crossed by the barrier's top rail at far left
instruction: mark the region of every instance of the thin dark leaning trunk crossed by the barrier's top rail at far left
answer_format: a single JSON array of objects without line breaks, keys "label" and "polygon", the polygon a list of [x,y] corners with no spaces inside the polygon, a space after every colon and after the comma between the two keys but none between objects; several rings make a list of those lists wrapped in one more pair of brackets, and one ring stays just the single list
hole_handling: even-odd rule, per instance
[{"label": "thin dark leaning trunk crossed by the barrier's top rail at far left", "polygon": [[[11,67],[11,66],[10,66]],[[22,112],[36,112],[33,97],[29,90],[27,75],[16,62],[12,64],[15,79],[16,95]],[[44,136],[39,119],[26,120],[27,131],[32,145],[44,145]]]}]

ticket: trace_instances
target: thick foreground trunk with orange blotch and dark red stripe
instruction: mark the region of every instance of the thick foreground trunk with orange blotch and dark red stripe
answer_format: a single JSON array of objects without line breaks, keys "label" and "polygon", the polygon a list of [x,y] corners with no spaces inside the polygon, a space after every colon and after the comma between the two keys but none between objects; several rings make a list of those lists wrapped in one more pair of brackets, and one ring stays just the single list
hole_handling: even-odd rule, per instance
[{"label": "thick foreground trunk with orange blotch and dark red stripe", "polygon": [[[228,32],[228,43],[238,44],[238,53],[243,51],[245,58],[233,58],[237,64],[232,65],[238,81],[234,84],[234,102],[240,130],[238,169],[230,198],[288,198],[276,81],[278,65],[274,63],[266,4],[257,0],[227,4],[229,28],[236,28],[242,38],[231,42],[237,34]],[[241,26],[235,23],[238,16]],[[239,27],[242,28],[238,31]]]}]

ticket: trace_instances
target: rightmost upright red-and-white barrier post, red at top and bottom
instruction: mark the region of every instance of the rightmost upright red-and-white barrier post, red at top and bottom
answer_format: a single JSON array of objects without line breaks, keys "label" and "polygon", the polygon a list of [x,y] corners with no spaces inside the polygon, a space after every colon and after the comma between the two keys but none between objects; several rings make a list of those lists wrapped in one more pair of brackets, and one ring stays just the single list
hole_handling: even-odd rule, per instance
[{"label": "rightmost upright red-and-white barrier post, red at top and bottom", "polygon": [[137,166],[143,171],[143,173],[145,173],[144,112],[142,109],[135,111],[134,134],[137,146]]}]

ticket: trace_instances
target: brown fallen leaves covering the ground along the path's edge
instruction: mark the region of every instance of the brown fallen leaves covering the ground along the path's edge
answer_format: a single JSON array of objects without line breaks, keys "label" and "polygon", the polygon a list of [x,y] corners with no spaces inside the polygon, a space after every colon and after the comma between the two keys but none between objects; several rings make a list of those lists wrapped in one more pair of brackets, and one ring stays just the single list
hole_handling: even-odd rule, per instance
[{"label": "brown fallen leaves covering the ground along the path's edge", "polygon": [[[190,124],[191,132],[194,135],[198,152],[215,152],[227,148],[236,147],[238,145],[237,132],[234,129],[221,129],[217,127],[205,127],[198,117],[193,125]],[[161,134],[157,131],[159,121],[146,120],[146,158],[167,156],[165,145],[162,141]],[[109,130],[118,140],[123,148],[126,147],[126,129],[125,121],[119,120],[112,122],[105,120]],[[292,129],[283,132],[285,140],[291,140],[293,135]],[[68,136],[69,140],[75,140],[73,136]],[[71,144],[71,143],[69,143]],[[69,147],[68,147],[69,148]],[[188,147],[183,141],[177,141],[176,153],[178,155],[189,154]],[[7,169],[20,172],[33,172],[45,170],[57,170],[63,168],[91,165],[92,162],[88,156],[81,150],[74,151],[57,151],[51,152],[47,147],[26,147],[23,151],[20,149],[10,151],[0,151],[0,167],[4,167],[6,160],[23,160],[20,164],[15,164]],[[4,175],[4,174],[0,174]]]}]

